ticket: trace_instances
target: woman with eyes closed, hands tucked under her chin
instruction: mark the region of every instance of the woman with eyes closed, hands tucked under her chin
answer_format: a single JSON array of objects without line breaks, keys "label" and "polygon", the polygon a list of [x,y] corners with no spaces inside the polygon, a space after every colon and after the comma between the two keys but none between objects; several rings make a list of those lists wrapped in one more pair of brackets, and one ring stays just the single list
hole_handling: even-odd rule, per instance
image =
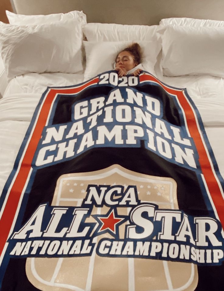
[{"label": "woman with eyes closed, hands tucked under her chin", "polygon": [[119,77],[132,74],[138,76],[143,67],[141,64],[141,47],[138,43],[133,43],[122,50],[116,57],[115,70]]}]

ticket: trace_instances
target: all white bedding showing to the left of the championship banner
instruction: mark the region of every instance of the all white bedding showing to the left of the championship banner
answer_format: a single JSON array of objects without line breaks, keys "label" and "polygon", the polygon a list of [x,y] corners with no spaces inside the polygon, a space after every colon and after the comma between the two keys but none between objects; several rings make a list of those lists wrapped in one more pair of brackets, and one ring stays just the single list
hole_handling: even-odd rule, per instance
[{"label": "all white bedding showing to the left of the championship banner", "polygon": [[4,97],[0,99],[0,195],[47,86],[69,86],[82,82],[82,74],[63,73],[32,73],[9,82]]}]

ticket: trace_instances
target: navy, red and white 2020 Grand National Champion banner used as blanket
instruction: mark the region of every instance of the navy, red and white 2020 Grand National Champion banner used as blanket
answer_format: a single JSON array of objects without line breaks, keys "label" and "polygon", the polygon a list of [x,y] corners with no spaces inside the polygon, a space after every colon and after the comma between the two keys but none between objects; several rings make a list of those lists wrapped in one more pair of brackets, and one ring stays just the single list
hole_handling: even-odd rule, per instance
[{"label": "navy, red and white 2020 Grand National Champion banner used as blanket", "polygon": [[1,290],[222,290],[223,185],[186,89],[48,87],[1,195]]}]

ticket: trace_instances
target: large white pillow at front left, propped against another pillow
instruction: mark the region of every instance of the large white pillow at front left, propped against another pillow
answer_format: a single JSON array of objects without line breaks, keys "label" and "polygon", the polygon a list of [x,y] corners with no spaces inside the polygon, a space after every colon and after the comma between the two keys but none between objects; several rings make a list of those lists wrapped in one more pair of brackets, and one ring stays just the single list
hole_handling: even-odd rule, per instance
[{"label": "large white pillow at front left, propped against another pillow", "polygon": [[9,80],[30,72],[80,72],[81,47],[82,25],[75,19],[36,26],[0,22],[0,52]]}]

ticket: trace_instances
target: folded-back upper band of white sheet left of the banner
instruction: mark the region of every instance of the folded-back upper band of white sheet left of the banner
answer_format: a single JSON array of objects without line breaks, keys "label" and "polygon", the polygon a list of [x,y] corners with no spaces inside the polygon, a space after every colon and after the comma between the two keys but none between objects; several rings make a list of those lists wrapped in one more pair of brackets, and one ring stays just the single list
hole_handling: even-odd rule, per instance
[{"label": "folded-back upper band of white sheet left of the banner", "polygon": [[83,82],[83,74],[31,73],[13,78],[0,99],[0,121],[30,121],[47,86],[70,86]]}]

